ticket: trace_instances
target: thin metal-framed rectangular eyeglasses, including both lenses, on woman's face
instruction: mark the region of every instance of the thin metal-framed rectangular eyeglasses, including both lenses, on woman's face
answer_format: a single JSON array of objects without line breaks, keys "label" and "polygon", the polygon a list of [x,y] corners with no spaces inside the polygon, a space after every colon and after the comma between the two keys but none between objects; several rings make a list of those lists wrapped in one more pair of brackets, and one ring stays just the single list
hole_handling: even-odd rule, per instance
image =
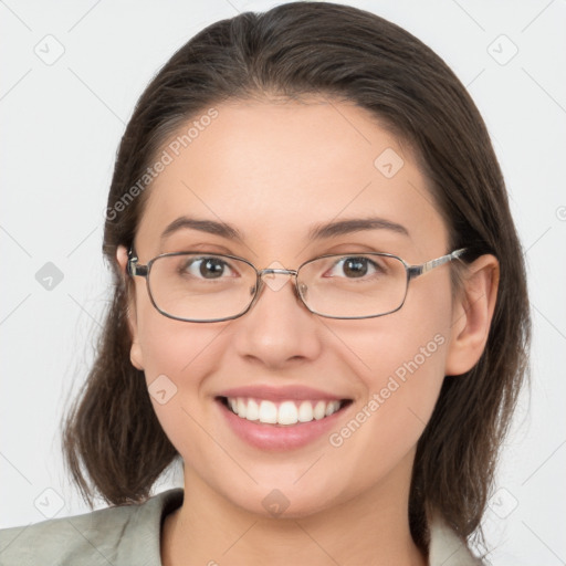
[{"label": "thin metal-framed rectangular eyeglasses, including both lenses, on woman's face", "polygon": [[371,252],[322,255],[296,270],[258,270],[243,258],[202,252],[164,253],[139,265],[130,248],[127,273],[146,277],[155,308],[177,321],[238,318],[252,307],[264,284],[274,291],[282,287],[281,280],[275,282],[280,274],[294,277],[296,296],[311,313],[327,318],[374,318],[401,308],[409,281],[465,251],[462,248],[420,265]]}]

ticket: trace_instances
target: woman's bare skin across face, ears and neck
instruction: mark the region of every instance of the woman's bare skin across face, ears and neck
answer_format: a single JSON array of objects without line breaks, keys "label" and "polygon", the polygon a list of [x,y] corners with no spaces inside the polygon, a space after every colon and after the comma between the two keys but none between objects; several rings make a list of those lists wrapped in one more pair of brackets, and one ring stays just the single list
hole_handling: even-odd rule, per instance
[{"label": "woman's bare skin across face, ears and neck", "polygon": [[[316,98],[232,101],[217,109],[148,189],[135,239],[140,264],[187,249],[287,269],[324,253],[384,251],[419,264],[451,251],[411,153],[366,111]],[[374,166],[386,148],[405,161],[392,178]],[[181,214],[233,224],[244,242],[185,229],[161,244],[163,230]],[[398,222],[410,235],[306,238],[315,223],[368,216]],[[123,247],[117,261],[124,271]],[[161,535],[165,566],[427,564],[407,512],[415,449],[444,376],[469,370],[483,350],[495,258],[476,260],[454,298],[443,265],[411,282],[400,311],[358,321],[312,314],[285,284],[265,286],[240,318],[179,322],[159,314],[145,280],[134,279],[132,363],[148,385],[165,374],[177,387],[165,405],[151,398],[185,462],[185,502]],[[354,400],[339,430],[436,335],[443,344],[338,448],[324,434],[305,448],[261,451],[220,418],[214,396],[222,389],[307,385]],[[290,502],[279,517],[262,505],[273,489]]]}]

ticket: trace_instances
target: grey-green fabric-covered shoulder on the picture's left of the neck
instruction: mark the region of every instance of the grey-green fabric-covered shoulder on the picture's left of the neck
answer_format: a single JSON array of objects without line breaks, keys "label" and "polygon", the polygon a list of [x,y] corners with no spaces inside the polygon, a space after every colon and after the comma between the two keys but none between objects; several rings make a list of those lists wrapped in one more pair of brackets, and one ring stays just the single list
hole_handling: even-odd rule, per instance
[{"label": "grey-green fabric-covered shoulder on the picture's left of the neck", "polygon": [[144,503],[0,530],[0,564],[158,566],[161,518],[182,497],[184,490],[176,488]]}]

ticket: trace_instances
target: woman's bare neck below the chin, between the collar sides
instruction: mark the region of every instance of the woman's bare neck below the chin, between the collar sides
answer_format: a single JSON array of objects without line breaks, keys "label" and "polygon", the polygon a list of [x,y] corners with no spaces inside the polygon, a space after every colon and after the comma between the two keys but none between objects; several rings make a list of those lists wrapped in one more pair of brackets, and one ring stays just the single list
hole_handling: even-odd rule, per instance
[{"label": "woman's bare neck below the chin, between the collar sides", "polygon": [[163,566],[426,566],[409,530],[408,482],[388,479],[315,514],[264,517],[186,469],[185,500],[165,520]]}]

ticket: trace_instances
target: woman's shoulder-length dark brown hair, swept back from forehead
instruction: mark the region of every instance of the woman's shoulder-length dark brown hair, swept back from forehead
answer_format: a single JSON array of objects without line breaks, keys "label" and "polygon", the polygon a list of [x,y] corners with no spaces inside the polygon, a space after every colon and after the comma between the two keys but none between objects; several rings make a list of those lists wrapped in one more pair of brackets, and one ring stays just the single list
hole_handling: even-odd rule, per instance
[{"label": "woman's shoulder-length dark brown hair, swept back from forehead", "polygon": [[95,491],[122,504],[147,499],[179,455],[155,416],[144,374],[129,360],[132,283],[120,275],[116,248],[133,243],[147,200],[147,191],[132,198],[133,187],[171,134],[211,105],[302,95],[350,101],[410,144],[447,222],[450,248],[469,248],[468,261],[484,253],[500,261],[485,350],[472,370],[444,379],[418,442],[409,500],[421,548],[430,511],[462,539],[481,536],[499,448],[527,376],[531,334],[504,181],[485,125],[446,63],[401,28],[340,4],[291,2],[213,23],[175,53],[139,98],[108,196],[103,251],[114,298],[94,367],[63,423],[67,465],[91,505]]}]

